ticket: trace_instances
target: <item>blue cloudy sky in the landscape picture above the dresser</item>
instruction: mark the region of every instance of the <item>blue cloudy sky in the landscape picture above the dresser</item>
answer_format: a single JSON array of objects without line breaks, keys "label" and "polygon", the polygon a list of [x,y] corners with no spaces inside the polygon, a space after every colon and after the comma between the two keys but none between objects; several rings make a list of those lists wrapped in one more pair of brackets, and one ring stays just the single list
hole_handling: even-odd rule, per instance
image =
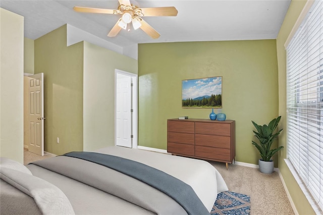
[{"label": "blue cloudy sky in the landscape picture above the dresser", "polygon": [[222,94],[222,77],[190,79],[182,81],[182,99]]}]

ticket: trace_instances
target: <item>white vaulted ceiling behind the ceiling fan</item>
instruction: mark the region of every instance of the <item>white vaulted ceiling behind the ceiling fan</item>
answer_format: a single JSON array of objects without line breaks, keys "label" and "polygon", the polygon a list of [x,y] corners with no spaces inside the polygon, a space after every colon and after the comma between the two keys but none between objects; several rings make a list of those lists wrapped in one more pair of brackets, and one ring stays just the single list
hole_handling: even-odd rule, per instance
[{"label": "white vaulted ceiling behind the ceiling fan", "polygon": [[129,32],[122,29],[116,37],[107,37],[119,15],[77,13],[73,7],[117,9],[117,0],[1,0],[0,7],[25,17],[25,37],[30,39],[37,39],[64,24],[70,24],[125,47],[152,42],[275,39],[291,0],[130,2],[139,8],[174,6],[178,15],[144,17],[160,33],[158,39],[150,38],[141,29]]}]

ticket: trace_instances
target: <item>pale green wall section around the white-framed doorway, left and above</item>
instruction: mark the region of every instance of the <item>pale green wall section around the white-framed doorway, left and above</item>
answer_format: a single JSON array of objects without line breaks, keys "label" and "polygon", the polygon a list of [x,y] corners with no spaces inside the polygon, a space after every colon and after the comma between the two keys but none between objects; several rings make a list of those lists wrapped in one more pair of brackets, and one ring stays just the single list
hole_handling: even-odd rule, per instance
[{"label": "pale green wall section around the white-framed doorway, left and above", "polygon": [[137,60],[84,41],[85,151],[115,145],[116,69],[137,74]]}]

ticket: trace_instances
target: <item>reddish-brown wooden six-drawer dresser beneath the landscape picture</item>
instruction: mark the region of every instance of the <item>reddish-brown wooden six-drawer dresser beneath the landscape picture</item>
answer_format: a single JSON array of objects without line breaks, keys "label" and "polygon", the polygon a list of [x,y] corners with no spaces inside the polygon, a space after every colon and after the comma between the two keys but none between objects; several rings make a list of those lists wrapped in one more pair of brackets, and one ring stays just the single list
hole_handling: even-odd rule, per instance
[{"label": "reddish-brown wooden six-drawer dresser beneath the landscape picture", "polygon": [[167,120],[167,151],[232,164],[235,157],[235,121],[207,119]]}]

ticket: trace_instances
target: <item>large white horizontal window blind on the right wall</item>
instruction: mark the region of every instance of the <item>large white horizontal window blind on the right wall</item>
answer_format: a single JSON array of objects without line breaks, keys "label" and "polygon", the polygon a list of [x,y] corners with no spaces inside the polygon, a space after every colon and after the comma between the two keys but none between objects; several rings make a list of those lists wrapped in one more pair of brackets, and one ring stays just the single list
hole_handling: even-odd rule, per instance
[{"label": "large white horizontal window blind on the right wall", "polygon": [[287,46],[287,156],[323,208],[323,1]]}]

